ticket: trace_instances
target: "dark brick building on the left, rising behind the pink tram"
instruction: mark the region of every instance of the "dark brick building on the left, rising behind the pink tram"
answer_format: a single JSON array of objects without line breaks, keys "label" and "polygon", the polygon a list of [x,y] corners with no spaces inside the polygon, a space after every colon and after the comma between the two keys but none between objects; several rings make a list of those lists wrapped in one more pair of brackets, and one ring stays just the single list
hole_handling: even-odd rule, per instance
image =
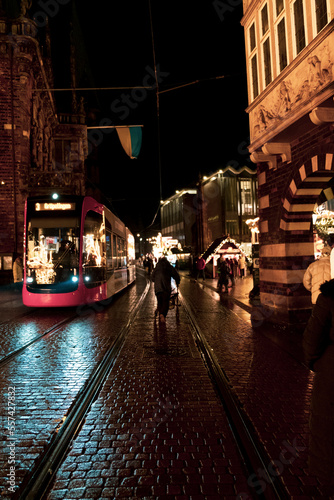
[{"label": "dark brick building on the left, rising behind the pink tram", "polygon": [[57,113],[47,32],[42,45],[43,33],[22,14],[13,19],[0,12],[0,275],[5,280],[12,259],[23,252],[27,196],[55,188],[84,194],[88,150],[83,107]]}]

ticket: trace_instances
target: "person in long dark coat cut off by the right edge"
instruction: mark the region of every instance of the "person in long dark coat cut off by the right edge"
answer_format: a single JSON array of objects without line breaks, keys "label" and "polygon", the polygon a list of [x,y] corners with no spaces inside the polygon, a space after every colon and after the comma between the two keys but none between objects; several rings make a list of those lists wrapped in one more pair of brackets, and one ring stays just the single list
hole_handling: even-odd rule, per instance
[{"label": "person in long dark coat cut off by the right edge", "polygon": [[310,472],[334,485],[334,279],[320,286],[306,326],[303,348],[315,372],[310,415]]}]

